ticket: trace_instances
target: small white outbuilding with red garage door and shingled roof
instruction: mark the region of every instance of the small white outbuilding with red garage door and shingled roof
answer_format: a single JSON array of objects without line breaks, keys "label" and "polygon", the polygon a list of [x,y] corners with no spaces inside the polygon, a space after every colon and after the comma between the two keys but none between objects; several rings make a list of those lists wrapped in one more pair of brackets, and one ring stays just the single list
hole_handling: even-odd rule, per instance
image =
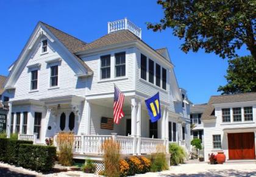
[{"label": "small white outbuilding with red garage door and shingled roof", "polygon": [[212,96],[202,122],[205,157],[222,151],[227,160],[255,159],[256,92]]}]

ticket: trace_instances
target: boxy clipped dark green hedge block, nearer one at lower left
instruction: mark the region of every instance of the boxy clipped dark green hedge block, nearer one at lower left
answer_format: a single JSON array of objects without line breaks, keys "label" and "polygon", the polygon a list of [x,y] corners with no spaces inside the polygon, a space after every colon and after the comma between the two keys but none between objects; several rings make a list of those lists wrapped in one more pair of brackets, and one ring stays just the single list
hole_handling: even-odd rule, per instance
[{"label": "boxy clipped dark green hedge block, nearer one at lower left", "polygon": [[21,144],[18,164],[21,167],[49,172],[54,167],[56,148],[53,146]]}]

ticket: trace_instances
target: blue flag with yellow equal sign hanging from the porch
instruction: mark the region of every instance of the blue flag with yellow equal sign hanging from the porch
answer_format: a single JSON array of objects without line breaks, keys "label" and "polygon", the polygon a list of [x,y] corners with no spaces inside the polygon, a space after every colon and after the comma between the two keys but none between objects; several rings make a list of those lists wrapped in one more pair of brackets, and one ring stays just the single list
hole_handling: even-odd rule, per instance
[{"label": "blue flag with yellow equal sign hanging from the porch", "polygon": [[148,108],[151,122],[156,122],[158,119],[161,118],[161,106],[160,106],[159,92],[157,92],[157,94],[155,94],[148,100],[145,100],[145,103]]}]

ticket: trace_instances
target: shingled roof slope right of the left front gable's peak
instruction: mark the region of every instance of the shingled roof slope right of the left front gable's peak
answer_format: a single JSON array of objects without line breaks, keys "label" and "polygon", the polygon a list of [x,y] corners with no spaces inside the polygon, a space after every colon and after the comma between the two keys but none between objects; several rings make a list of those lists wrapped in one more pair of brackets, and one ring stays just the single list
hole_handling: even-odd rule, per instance
[{"label": "shingled roof slope right of the left front gable's peak", "polygon": [[93,72],[81,58],[74,54],[79,51],[80,48],[86,46],[87,43],[69,35],[68,33],[63,32],[62,30],[55,29],[55,27],[49,26],[49,24],[43,23],[41,21],[40,23],[43,24],[43,26],[45,26],[69,50],[69,52],[71,52],[71,54],[77,58],[77,61],[79,61],[79,63],[82,64],[82,66],[84,66],[88,72]]}]

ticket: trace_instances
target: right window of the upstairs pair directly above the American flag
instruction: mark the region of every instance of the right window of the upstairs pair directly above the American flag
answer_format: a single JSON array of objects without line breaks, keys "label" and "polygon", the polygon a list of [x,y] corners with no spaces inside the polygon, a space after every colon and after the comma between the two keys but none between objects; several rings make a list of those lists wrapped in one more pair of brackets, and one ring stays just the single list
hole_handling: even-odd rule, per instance
[{"label": "right window of the upstairs pair directly above the American flag", "polygon": [[116,77],[126,75],[126,52],[115,54],[116,58]]}]

